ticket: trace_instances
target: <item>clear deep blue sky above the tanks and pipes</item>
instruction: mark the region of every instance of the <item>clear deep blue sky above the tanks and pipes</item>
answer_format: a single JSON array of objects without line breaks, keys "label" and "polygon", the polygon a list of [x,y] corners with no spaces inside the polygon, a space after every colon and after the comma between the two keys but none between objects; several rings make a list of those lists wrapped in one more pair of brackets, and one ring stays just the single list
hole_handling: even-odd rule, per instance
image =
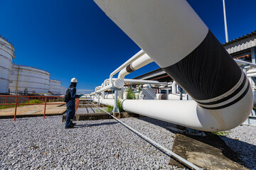
[{"label": "clear deep blue sky above the tanks and pipes", "polygon": [[[221,0],[188,0],[225,42]],[[255,0],[225,0],[229,40],[256,30]],[[14,63],[44,69],[68,87],[95,89],[140,49],[92,0],[1,1],[0,34],[14,43]],[[151,63],[127,78],[159,68]]]}]

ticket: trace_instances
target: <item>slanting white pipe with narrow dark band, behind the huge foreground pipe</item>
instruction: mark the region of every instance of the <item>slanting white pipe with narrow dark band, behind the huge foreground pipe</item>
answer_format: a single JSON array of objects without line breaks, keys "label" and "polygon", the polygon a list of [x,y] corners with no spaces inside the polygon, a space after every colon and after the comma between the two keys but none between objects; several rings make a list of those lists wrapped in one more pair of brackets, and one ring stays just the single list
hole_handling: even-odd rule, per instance
[{"label": "slanting white pipe with narrow dark band, behind the huge foreground pipe", "polygon": [[151,62],[154,62],[154,61],[151,60],[149,55],[146,55],[146,54],[142,55],[142,57],[139,57],[137,60],[127,65],[126,68],[122,69],[118,74],[118,79],[124,79],[124,77],[127,74],[134,72],[135,70],[140,69]]}]

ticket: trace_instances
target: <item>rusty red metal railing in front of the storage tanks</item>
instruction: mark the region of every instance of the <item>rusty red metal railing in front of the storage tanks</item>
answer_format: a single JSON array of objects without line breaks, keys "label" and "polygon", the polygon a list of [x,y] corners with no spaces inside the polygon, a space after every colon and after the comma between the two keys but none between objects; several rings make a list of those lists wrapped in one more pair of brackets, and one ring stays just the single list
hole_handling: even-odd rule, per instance
[{"label": "rusty red metal railing in front of the storage tanks", "polygon": [[[48,105],[64,105],[65,102],[52,103],[55,101],[63,101],[64,96],[0,96],[0,106],[13,106],[14,120],[16,121],[16,113],[18,106],[30,106],[30,105],[44,105],[43,118],[46,118],[46,106]],[[34,101],[35,100],[35,101]],[[34,101],[34,103],[29,103],[29,101]],[[78,109],[79,98],[75,100],[75,111]],[[1,111],[1,110],[0,110]]]}]

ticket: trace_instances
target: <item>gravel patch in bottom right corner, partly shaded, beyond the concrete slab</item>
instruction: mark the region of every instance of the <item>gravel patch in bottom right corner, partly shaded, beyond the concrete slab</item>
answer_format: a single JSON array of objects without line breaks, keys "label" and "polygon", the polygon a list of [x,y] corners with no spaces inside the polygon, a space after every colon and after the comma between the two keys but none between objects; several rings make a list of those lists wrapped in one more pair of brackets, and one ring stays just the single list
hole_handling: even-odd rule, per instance
[{"label": "gravel patch in bottom right corner, partly shaded, beyond the concrete slab", "polygon": [[227,132],[227,137],[220,138],[238,153],[245,166],[256,170],[256,126],[240,125]]}]

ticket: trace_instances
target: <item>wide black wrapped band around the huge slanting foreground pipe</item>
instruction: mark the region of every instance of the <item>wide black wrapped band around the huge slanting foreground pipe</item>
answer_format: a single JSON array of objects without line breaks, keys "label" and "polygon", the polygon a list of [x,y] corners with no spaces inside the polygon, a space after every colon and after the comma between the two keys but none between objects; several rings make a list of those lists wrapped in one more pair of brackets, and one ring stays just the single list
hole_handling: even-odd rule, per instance
[{"label": "wide black wrapped band around the huge slanting foreground pipe", "polygon": [[[183,60],[162,69],[195,100],[208,100],[225,94],[244,74],[210,30],[203,42]],[[245,86],[245,81],[246,77],[230,96],[208,104],[220,103],[235,96]]]}]

